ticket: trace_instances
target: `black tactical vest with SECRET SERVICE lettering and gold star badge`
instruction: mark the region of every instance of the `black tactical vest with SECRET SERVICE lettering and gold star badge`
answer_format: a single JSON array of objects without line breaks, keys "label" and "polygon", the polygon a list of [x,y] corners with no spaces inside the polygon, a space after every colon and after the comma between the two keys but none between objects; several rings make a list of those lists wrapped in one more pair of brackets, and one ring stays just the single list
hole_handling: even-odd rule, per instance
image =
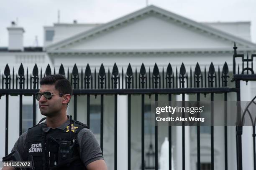
[{"label": "black tactical vest with SECRET SERVICE lettering and gold star badge", "polygon": [[72,120],[71,132],[50,129],[43,131],[43,123],[28,129],[23,159],[31,161],[36,170],[84,170],[80,159],[77,134],[87,125]]}]

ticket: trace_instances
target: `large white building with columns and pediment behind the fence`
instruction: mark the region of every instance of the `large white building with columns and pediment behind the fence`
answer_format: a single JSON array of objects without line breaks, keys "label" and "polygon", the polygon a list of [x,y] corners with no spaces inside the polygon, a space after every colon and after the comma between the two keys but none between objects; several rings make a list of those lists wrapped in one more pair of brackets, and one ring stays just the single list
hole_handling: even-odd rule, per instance
[{"label": "large white building with columns and pediment behind the fence", "polygon": [[[67,72],[67,68],[72,70],[76,63],[79,70],[85,67],[87,63],[92,69],[96,68],[97,72],[101,63],[105,69],[112,69],[114,62],[118,65],[119,70],[123,67],[127,69],[128,63],[131,63],[133,70],[139,69],[144,63],[153,70],[156,62],[159,68],[166,67],[170,62],[172,67],[180,67],[184,62],[186,69],[195,70],[196,62],[200,66],[209,68],[210,62],[215,66],[220,65],[222,68],[225,61],[228,63],[229,70],[232,70],[233,61],[233,44],[236,42],[239,52],[256,53],[256,44],[251,42],[250,22],[235,23],[197,23],[182,16],[176,15],[169,11],[163,10],[156,6],[148,6],[134,13],[118,18],[105,24],[80,24],[74,23],[56,23],[53,26],[44,27],[44,47],[23,47],[24,29],[12,25],[8,28],[9,45],[0,48],[0,71],[3,73],[6,63],[10,69],[14,67],[17,72],[20,63],[28,67],[31,73],[35,63],[38,68],[42,67],[44,71],[49,63],[51,68],[59,70],[61,63]],[[202,68],[201,68],[202,69]],[[230,71],[231,72],[231,71]],[[255,95],[255,89],[252,83],[248,86],[241,83],[242,96],[241,100],[251,100]],[[119,96],[118,100],[118,169],[127,168],[127,98]],[[229,95],[229,100],[233,95]],[[166,100],[164,96],[159,97]],[[78,120],[86,120],[86,98],[78,98]],[[94,122],[99,123],[100,104],[99,97],[94,96],[92,100],[92,116]],[[149,107],[150,100],[146,98],[146,107]],[[180,96],[176,96],[180,100]],[[187,95],[186,100],[193,100],[192,95]],[[220,98],[221,100],[221,98]],[[18,138],[18,105],[13,107],[13,103],[18,104],[18,97],[10,97],[9,102],[9,152]],[[132,110],[132,169],[137,170],[141,165],[141,128],[140,98],[134,96]],[[31,97],[24,97],[24,114],[29,115],[31,110]],[[104,105],[104,157],[110,170],[113,169],[113,105],[112,96],[105,97]],[[5,108],[5,97],[0,100],[1,108]],[[72,103],[69,107],[69,113],[73,113]],[[2,114],[5,115],[4,110]],[[37,109],[37,120],[41,119]],[[26,121],[26,120],[24,120]],[[27,122],[31,121],[28,116]],[[28,124],[29,125],[29,124]],[[5,134],[5,118],[0,120],[1,134]],[[150,129],[150,128],[149,128]],[[145,132],[145,151],[147,151],[151,142],[152,134],[150,130]],[[223,127],[215,127],[215,170],[224,169],[224,130]],[[244,128],[246,129],[246,127]],[[95,127],[95,135],[100,139],[99,130]],[[159,145],[164,142],[164,137],[168,135],[167,129],[159,130]],[[172,144],[174,148],[174,168],[180,170],[182,166],[181,145],[181,128],[172,128]],[[249,127],[243,138],[246,143],[243,144],[243,168],[252,170],[252,138],[251,128]],[[218,133],[217,133],[218,132]],[[236,140],[235,128],[228,128],[228,168],[236,169]],[[247,135],[247,136],[246,136]],[[154,136],[154,134],[153,134]],[[194,127],[186,127],[186,170],[195,170],[197,164],[196,133]],[[249,140],[248,140],[249,139]],[[243,140],[245,141],[245,140]],[[154,142],[154,140],[153,140]],[[4,156],[5,140],[0,142],[0,157]],[[159,153],[160,153],[159,146]],[[249,156],[248,156],[249,155]],[[210,134],[209,130],[202,130],[201,134],[201,163],[207,167],[210,163]],[[202,169],[203,170],[203,169]],[[207,170],[207,169],[205,169]]]}]

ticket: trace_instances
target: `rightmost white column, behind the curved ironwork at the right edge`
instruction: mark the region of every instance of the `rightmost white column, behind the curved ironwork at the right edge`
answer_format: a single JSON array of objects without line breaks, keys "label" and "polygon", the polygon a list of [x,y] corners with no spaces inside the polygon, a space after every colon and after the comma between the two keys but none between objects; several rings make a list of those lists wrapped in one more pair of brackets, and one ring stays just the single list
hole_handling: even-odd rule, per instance
[{"label": "rightmost white column, behind the curved ironwork at the right edge", "polygon": [[[251,95],[251,82],[240,81],[241,87],[241,101],[250,101],[253,99]],[[243,108],[243,106],[242,106]],[[243,126],[242,135],[242,158],[243,158],[243,169],[253,170],[253,138],[252,138],[252,127]]]}]

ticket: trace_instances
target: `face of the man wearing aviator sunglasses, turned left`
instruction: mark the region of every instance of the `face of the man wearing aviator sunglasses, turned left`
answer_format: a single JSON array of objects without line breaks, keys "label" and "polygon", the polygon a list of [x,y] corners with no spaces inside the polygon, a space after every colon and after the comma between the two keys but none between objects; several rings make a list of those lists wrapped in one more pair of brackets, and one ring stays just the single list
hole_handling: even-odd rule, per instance
[{"label": "face of the man wearing aviator sunglasses, turned left", "polygon": [[[55,89],[55,85],[41,85],[39,92],[51,92],[52,94],[60,93]],[[49,100],[42,95],[39,100],[39,109],[41,114],[48,117],[58,115],[61,109],[65,107],[65,105],[62,104],[62,100],[63,97],[60,97],[59,95],[52,95]]]}]

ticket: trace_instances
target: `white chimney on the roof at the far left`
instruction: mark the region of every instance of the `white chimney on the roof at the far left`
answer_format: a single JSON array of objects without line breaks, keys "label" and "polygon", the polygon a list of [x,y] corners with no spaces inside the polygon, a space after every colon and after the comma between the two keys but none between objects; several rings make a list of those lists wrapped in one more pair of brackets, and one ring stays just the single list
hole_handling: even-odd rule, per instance
[{"label": "white chimney on the roof at the far left", "polygon": [[9,45],[10,51],[23,51],[23,33],[25,32],[22,27],[18,27],[14,21],[11,22],[11,26],[7,28],[9,33]]}]

